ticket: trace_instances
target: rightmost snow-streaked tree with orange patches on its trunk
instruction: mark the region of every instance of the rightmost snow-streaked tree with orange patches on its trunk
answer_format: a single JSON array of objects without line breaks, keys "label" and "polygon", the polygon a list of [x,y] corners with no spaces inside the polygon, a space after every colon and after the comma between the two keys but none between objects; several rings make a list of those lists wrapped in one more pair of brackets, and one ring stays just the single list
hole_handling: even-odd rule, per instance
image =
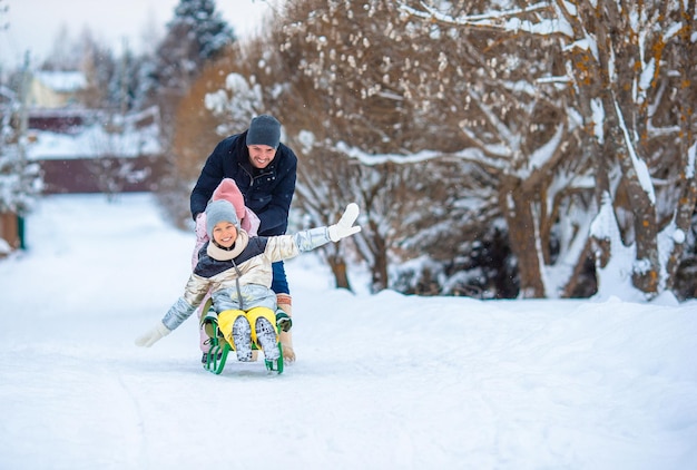
[{"label": "rightmost snow-streaked tree with orange patches on its trunk", "polygon": [[[624,242],[634,244],[632,285],[649,297],[669,287],[697,199],[695,114],[686,105],[695,102],[697,87],[688,79],[697,60],[695,1],[542,1],[469,17],[422,2],[402,8],[455,28],[558,41],[571,84],[567,114],[580,116],[581,141],[593,149],[585,155],[593,158],[598,205],[611,204],[598,215],[611,216]],[[679,172],[668,169],[676,166]],[[622,204],[628,210],[618,221]],[[600,227],[608,224],[596,221],[591,234],[598,260],[608,261],[607,249],[619,251],[622,241]]]}]

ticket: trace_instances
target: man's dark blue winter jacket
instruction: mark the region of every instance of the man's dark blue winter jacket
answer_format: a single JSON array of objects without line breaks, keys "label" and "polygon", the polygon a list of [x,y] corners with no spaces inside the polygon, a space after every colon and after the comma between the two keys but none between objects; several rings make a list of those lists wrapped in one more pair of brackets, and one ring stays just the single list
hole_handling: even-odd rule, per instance
[{"label": "man's dark blue winter jacket", "polygon": [[282,235],[288,226],[288,210],[295,192],[297,157],[283,144],[264,169],[249,163],[247,133],[222,140],[208,156],[192,190],[192,216],[206,209],[223,178],[233,178],[245,197],[245,205],[259,217],[258,235]]}]

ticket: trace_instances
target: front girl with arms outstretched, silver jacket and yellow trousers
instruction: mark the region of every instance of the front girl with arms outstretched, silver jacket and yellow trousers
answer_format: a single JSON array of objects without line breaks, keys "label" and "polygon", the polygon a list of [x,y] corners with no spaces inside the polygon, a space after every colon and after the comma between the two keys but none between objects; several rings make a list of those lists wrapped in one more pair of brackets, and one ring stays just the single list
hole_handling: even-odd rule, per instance
[{"label": "front girl with arms outstretched, silver jacket and yellow trousers", "polygon": [[361,227],[353,225],[357,217],[359,206],[352,203],[335,225],[295,235],[249,237],[240,228],[229,202],[212,202],[206,207],[206,233],[210,242],[200,248],[184,295],[155,327],[136,339],[136,344],[149,347],[169,334],[192,315],[210,290],[218,327],[235,349],[237,359],[252,359],[253,342],[267,360],[278,359],[272,263],[359,233]]}]

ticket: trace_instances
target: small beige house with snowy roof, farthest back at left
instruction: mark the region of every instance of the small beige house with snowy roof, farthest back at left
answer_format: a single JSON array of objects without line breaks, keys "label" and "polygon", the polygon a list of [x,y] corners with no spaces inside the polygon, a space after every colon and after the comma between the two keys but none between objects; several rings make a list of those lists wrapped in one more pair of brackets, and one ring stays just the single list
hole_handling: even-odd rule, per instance
[{"label": "small beige house with snowy roof, farthest back at left", "polygon": [[79,102],[79,94],[87,88],[81,71],[48,71],[33,74],[29,86],[29,106],[62,108]]}]

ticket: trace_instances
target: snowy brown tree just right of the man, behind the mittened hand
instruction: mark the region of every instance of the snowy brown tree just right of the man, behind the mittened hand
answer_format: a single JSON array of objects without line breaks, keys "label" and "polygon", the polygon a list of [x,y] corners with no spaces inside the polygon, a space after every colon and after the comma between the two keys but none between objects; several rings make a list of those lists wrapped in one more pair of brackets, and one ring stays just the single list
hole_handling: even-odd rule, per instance
[{"label": "snowy brown tree just right of the man, behind the mittened hand", "polygon": [[[303,148],[298,199],[312,223],[325,223],[347,197],[360,199],[365,229],[354,238],[373,291],[386,288],[390,265],[443,257],[439,244],[426,241],[461,246],[453,221],[477,217],[457,204],[479,187],[449,155],[465,140],[457,120],[412,99],[402,78],[403,70],[431,67],[424,59],[433,48],[403,36],[409,26],[389,1],[289,1],[283,18],[282,57],[288,70],[302,72],[292,78],[294,102],[311,110],[292,119]],[[470,197],[478,197],[474,190]],[[480,197],[491,200],[491,194]]]}]

